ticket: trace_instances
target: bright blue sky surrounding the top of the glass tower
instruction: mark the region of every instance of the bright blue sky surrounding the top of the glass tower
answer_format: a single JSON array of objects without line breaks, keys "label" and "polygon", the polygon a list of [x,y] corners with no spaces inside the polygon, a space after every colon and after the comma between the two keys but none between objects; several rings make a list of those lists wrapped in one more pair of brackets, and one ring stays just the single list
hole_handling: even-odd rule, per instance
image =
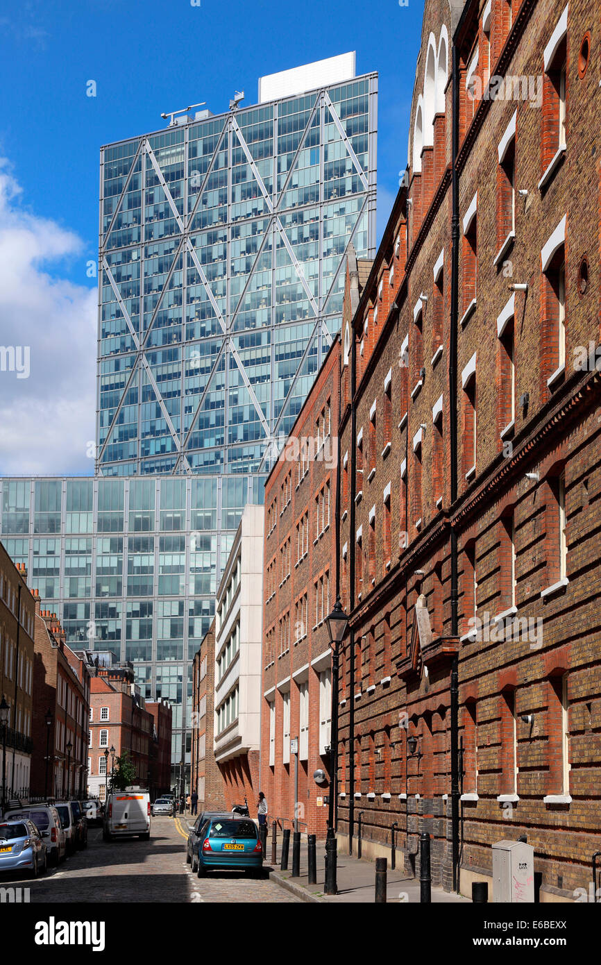
[{"label": "bright blue sky surrounding the top of the glass tower", "polygon": [[[0,246],[4,240],[5,250],[13,250],[11,231],[19,237],[23,231],[29,233],[22,249],[24,262],[15,270],[26,288],[28,272],[35,276],[32,290],[41,286],[40,325],[44,323],[41,306],[48,294],[59,317],[61,306],[68,306],[72,317],[65,337],[71,341],[74,337],[78,342],[81,336],[77,311],[82,306],[91,311],[90,290],[95,283],[86,277],[86,262],[97,253],[102,144],[163,127],[161,112],[188,103],[205,100],[213,113],[221,113],[228,109],[234,89],[245,91],[245,106],[256,103],[260,75],[347,50],[357,52],[358,73],[379,73],[381,234],[396,196],[399,169],[407,159],[422,16],[419,0],[409,0],[406,7],[400,7],[398,0],[350,4],[330,0],[327,5],[317,0],[292,5],[275,0],[201,0],[200,7],[190,0],[5,2],[0,9],[0,89],[5,92],[0,117],[0,158],[4,159],[0,161]],[[96,81],[96,97],[86,96],[89,80]],[[0,283],[1,276],[0,268]],[[9,311],[0,302],[4,333],[18,327],[31,297],[31,292],[16,295]],[[85,324],[86,340],[90,319]],[[51,324],[51,317],[45,323]],[[1,341],[6,345],[8,334]],[[94,355],[96,335],[91,345]],[[46,347],[49,354],[43,368],[40,353],[37,369],[32,361],[32,375],[37,373],[39,379],[50,364],[60,363],[52,355],[52,345]],[[83,362],[82,367],[75,381],[87,385],[91,375],[94,381],[93,370]],[[14,381],[11,398],[22,394],[30,403],[32,381]],[[68,393],[68,385],[57,384],[55,395]],[[0,388],[0,409],[4,396]],[[87,406],[89,399],[84,396],[77,402],[71,399],[71,407]],[[95,408],[93,402],[88,438],[94,437]],[[11,418],[6,407],[3,415]],[[32,411],[32,419],[34,415]],[[78,424],[72,430],[82,431]],[[21,434],[28,431],[31,426],[26,421]],[[7,458],[12,446],[14,439],[0,430],[0,472],[18,471],[23,464],[22,452]],[[53,471],[89,472],[90,460],[80,458],[79,449]],[[23,465],[21,471],[50,471],[47,461],[45,456],[41,463],[27,461],[28,468]]]}]

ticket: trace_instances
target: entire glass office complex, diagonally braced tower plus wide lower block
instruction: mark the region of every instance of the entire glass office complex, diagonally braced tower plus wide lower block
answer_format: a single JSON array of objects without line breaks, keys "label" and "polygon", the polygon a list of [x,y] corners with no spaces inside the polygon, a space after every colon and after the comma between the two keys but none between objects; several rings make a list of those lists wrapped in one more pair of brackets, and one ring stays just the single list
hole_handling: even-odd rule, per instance
[{"label": "entire glass office complex, diagonally braced tower plus wide lower block", "polygon": [[102,149],[96,477],[0,480],[69,645],[175,704],[174,762],[241,511],[340,331],[346,246],[375,250],[377,75],[344,55],[260,92]]}]

